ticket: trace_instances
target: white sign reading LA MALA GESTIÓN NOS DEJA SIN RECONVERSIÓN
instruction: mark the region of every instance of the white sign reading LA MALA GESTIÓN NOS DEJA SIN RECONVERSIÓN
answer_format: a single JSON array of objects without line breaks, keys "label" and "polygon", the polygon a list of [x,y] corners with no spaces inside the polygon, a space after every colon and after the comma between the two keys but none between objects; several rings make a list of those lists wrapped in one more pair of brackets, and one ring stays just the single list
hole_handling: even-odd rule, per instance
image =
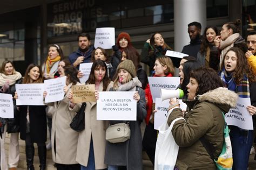
[{"label": "white sign reading LA MALA GESTI\u00d3N NOS DEJA SIN RECONVERSI\u00d3N", "polygon": [[99,91],[97,120],[136,121],[135,91]]}]

